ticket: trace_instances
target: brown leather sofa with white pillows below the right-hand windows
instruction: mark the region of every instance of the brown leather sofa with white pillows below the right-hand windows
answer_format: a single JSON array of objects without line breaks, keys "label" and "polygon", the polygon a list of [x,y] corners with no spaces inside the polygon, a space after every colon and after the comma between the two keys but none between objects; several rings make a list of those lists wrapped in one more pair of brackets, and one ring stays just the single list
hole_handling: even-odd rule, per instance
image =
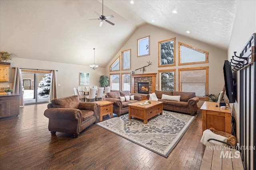
[{"label": "brown leather sofa with white pillows below the right-hand windows", "polygon": [[[162,101],[163,109],[170,111],[177,111],[182,113],[189,113],[194,115],[198,110],[197,103],[199,102],[199,98],[196,97],[196,93],[194,92],[175,92],[175,91],[161,91],[155,90],[154,93],[158,98],[158,101]],[[173,100],[162,100],[162,94],[170,95],[170,96],[180,96],[180,102]],[[147,95],[147,99],[149,99],[150,95]]]}]

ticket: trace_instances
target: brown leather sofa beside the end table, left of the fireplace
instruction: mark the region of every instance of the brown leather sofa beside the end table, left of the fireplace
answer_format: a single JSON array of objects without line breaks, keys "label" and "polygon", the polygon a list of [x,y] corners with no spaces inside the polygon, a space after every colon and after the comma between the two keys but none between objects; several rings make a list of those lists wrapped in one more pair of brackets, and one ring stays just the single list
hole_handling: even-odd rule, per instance
[{"label": "brown leather sofa beside the end table, left of the fireplace", "polygon": [[129,111],[128,104],[142,100],[142,96],[132,95],[132,96],[134,96],[134,100],[122,102],[120,100],[120,96],[121,97],[131,96],[131,93],[130,93],[130,91],[109,92],[106,94],[106,98],[104,98],[104,100],[114,102],[113,113],[117,114],[118,117],[124,113],[128,113],[128,111]]}]

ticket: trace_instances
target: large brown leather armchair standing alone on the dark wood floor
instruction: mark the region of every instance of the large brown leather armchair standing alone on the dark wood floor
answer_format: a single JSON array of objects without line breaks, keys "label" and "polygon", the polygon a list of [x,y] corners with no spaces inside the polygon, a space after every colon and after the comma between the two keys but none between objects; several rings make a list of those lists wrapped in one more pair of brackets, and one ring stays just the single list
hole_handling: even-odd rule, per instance
[{"label": "large brown leather armchair standing alone on the dark wood floor", "polygon": [[52,134],[56,132],[79,133],[96,121],[96,107],[94,102],[80,102],[78,96],[53,99],[48,104],[44,115],[49,118],[48,129]]}]

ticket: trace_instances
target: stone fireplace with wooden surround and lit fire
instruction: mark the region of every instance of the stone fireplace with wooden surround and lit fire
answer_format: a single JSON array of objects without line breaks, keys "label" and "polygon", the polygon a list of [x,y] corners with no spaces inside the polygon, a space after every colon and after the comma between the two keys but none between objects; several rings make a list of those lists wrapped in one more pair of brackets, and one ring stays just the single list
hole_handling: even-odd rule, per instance
[{"label": "stone fireplace with wooden surround and lit fire", "polygon": [[[156,89],[156,73],[148,74],[131,74],[132,76],[132,93],[135,94],[151,94]],[[148,91],[144,93],[139,93],[138,83],[148,84]],[[145,88],[145,87],[144,87]]]}]

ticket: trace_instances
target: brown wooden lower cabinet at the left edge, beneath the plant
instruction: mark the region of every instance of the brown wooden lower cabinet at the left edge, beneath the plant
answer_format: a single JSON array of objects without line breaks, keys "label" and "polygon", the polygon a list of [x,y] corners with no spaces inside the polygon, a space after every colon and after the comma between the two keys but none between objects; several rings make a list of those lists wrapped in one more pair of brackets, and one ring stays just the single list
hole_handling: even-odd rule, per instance
[{"label": "brown wooden lower cabinet at the left edge, beneath the plant", "polygon": [[0,95],[0,118],[20,114],[20,94]]}]

